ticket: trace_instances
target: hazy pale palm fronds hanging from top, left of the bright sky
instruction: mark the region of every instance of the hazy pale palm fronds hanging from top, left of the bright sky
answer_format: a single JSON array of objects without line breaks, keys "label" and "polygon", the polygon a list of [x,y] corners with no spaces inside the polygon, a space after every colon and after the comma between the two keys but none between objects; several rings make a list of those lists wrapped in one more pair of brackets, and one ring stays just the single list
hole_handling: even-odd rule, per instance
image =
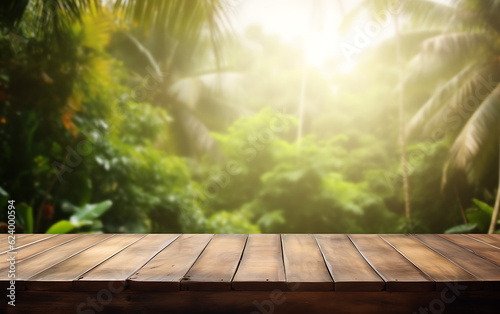
[{"label": "hazy pale palm fronds hanging from top, left of the bright sky", "polygon": [[131,62],[125,65],[139,80],[148,75],[145,69],[155,73],[157,87],[147,100],[173,116],[176,152],[219,157],[210,130],[220,127],[221,117],[239,114],[237,107],[220,97],[221,89],[233,86],[238,76],[223,58],[224,44],[229,42],[230,6],[224,0],[155,0],[116,1],[114,8],[141,26],[135,29],[136,36],[129,32],[122,37],[132,44],[127,49]]}]

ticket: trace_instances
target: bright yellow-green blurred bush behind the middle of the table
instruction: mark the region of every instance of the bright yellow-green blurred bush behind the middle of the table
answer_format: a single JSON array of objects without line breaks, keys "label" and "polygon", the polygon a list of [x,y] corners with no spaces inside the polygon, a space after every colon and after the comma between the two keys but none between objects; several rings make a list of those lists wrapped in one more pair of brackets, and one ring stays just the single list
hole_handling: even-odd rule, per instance
[{"label": "bright yellow-green blurred bush behind the middle of the table", "polygon": [[226,180],[208,178],[225,183],[212,200],[214,208],[231,205],[235,213],[251,213],[248,219],[263,232],[391,230],[393,217],[383,199],[368,184],[346,181],[341,174],[348,155],[342,146],[345,136],[304,138],[298,157],[297,144],[284,139],[286,130],[259,137],[279,119],[286,121],[286,116],[264,109],[237,121],[227,134],[215,134],[239,171]]}]

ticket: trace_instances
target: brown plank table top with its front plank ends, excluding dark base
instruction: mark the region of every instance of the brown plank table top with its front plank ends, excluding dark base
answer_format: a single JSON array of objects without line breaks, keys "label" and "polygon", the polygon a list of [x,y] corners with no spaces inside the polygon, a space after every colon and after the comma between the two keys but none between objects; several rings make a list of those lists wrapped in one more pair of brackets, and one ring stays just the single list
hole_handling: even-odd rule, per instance
[{"label": "brown plank table top with its front plank ends, excluding dark base", "polygon": [[500,235],[19,234],[13,252],[21,290],[500,290]]}]

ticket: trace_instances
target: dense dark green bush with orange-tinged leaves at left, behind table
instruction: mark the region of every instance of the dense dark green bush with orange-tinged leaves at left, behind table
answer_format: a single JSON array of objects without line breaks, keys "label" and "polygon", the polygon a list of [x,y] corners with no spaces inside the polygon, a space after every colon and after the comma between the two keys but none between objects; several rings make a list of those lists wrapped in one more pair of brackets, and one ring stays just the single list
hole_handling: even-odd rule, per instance
[{"label": "dense dark green bush with orange-tinged leaves at left, behind table", "polygon": [[[20,42],[0,37],[9,61],[0,68],[0,185],[36,209],[19,221],[25,232],[205,230],[185,161],[158,148],[169,141],[169,115],[134,102],[125,70],[105,52],[107,17],[83,16],[58,34],[64,45],[32,27],[19,23]],[[100,40],[89,40],[97,29]],[[92,205],[103,199],[114,206]]]}]

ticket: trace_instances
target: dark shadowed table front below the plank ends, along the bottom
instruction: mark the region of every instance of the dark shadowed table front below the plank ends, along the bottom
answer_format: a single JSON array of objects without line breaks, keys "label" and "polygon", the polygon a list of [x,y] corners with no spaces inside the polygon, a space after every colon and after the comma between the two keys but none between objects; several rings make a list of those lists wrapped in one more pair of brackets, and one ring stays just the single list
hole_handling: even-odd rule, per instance
[{"label": "dark shadowed table front below the plank ends, along the bottom", "polygon": [[[498,292],[123,291],[105,303],[95,292],[23,291],[7,313],[498,313]],[[94,300],[94,303],[89,301]],[[106,300],[106,296],[101,300]],[[440,302],[441,300],[441,302]]]}]

